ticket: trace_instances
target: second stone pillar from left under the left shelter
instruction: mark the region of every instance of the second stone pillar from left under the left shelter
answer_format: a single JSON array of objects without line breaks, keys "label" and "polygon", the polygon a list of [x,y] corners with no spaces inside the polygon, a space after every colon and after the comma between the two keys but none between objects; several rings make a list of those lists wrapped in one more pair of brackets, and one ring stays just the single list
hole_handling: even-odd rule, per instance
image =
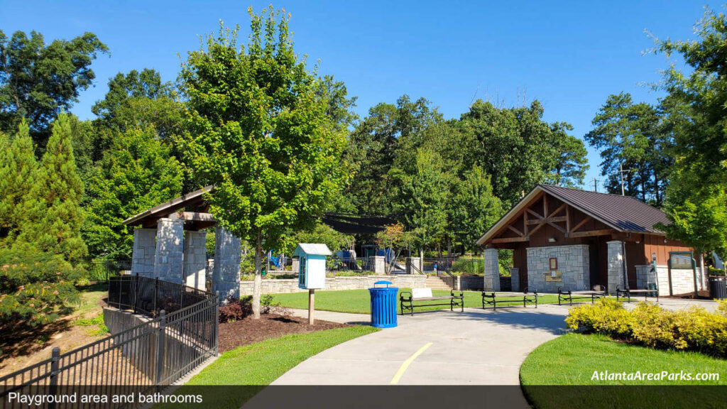
[{"label": "second stone pillar from left under the left shelter", "polygon": [[161,218],[156,222],[154,277],[184,284],[184,221]]}]

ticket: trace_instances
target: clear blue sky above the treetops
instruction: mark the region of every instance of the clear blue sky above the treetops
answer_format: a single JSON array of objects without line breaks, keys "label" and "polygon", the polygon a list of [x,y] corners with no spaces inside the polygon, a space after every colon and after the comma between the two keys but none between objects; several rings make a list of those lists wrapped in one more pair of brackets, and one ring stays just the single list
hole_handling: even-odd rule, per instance
[{"label": "clear blue sky above the treetops", "polygon": [[[296,50],[320,60],[358,97],[364,116],[400,95],[425,97],[447,118],[458,118],[473,98],[505,106],[540,100],[545,119],[574,125],[582,138],[606,97],[631,92],[636,100],[661,96],[648,86],[669,63],[644,54],[659,38],[694,39],[704,1],[276,1],[292,13]],[[95,87],[83,92],[73,113],[92,117],[91,106],[117,72],[155,68],[175,79],[180,57],[198,49],[199,36],[219,21],[241,25],[269,1],[0,1],[0,30],[36,30],[71,39],[91,31],[111,56],[93,65]],[[589,148],[590,171],[602,178],[598,152]]]}]

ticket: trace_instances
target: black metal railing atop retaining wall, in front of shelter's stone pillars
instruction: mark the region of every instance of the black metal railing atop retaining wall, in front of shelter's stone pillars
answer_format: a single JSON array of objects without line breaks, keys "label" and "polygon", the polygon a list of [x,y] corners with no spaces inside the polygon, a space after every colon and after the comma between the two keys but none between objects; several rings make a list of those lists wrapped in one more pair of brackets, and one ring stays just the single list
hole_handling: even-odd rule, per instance
[{"label": "black metal railing atop retaining wall, in front of shelter's stone pillars", "polygon": [[107,302],[117,309],[157,317],[161,310],[169,314],[212,297],[205,290],[135,274],[111,277]]}]

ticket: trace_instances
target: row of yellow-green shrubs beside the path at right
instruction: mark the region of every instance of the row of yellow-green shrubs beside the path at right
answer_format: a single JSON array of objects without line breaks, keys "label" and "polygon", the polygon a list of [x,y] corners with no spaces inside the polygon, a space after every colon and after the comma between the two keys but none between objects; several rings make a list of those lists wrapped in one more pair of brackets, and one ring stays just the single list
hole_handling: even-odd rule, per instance
[{"label": "row of yellow-green shrubs beside the path at right", "polygon": [[683,349],[727,357],[727,301],[717,312],[702,307],[669,311],[654,303],[638,303],[632,311],[614,300],[571,309],[566,324],[659,349]]}]

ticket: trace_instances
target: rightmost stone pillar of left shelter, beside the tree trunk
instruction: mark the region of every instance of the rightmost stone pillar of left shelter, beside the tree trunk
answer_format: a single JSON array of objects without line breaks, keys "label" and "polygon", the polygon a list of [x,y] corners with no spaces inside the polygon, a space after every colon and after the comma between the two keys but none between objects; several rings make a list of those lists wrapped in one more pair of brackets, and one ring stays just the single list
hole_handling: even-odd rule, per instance
[{"label": "rightmost stone pillar of left shelter, beside the tree trunk", "polygon": [[214,229],[212,291],[220,292],[220,301],[240,297],[240,258],[240,239],[217,226]]}]

